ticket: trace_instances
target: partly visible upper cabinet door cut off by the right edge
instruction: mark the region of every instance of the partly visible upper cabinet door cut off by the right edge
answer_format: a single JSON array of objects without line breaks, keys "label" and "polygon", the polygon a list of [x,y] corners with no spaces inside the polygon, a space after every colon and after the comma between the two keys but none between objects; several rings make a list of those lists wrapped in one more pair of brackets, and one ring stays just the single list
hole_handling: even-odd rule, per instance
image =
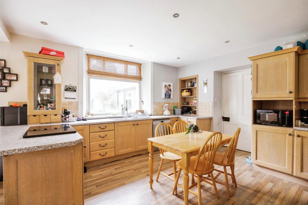
[{"label": "partly visible upper cabinet door cut off by the right edge", "polygon": [[299,57],[298,97],[308,97],[308,54]]}]

